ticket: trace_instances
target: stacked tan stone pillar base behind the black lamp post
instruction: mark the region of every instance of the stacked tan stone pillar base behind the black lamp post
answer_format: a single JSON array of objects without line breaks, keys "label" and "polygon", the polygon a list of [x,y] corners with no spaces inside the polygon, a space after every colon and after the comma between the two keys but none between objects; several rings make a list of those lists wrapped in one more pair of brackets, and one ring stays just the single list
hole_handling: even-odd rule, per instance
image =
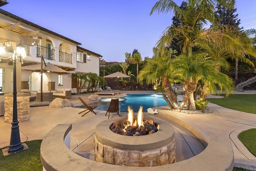
[{"label": "stacked tan stone pillar base behind the black lamp post", "polygon": [[[29,93],[17,94],[17,109],[18,121],[23,122],[29,119],[29,106],[30,106]],[[4,122],[12,123],[12,110],[13,109],[13,94],[4,94]]]}]

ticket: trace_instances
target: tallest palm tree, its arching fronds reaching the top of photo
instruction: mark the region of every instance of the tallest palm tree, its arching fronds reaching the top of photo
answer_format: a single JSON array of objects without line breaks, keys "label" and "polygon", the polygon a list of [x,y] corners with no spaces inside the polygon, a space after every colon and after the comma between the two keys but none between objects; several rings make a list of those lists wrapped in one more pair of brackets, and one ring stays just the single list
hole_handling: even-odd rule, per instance
[{"label": "tallest palm tree, its arching fronds reaching the top of photo", "polygon": [[[172,42],[176,40],[177,44],[182,49],[182,53],[186,54],[187,58],[191,58],[192,48],[196,47],[198,42],[210,42],[212,38],[221,38],[222,41],[219,43],[223,45],[227,44],[229,48],[232,47],[229,49],[232,50],[232,53],[244,54],[242,43],[233,36],[239,35],[239,32],[234,34],[236,30],[229,26],[219,26],[217,30],[219,18],[212,2],[212,0],[188,0],[188,6],[184,10],[172,0],[159,0],[156,2],[150,15],[153,12],[168,13],[173,11],[174,15],[182,21],[182,25],[180,26],[169,26],[166,28],[161,38],[158,40],[156,47],[164,53],[166,46],[170,46]],[[203,28],[203,24],[207,22],[212,24],[212,28]],[[226,34],[227,31],[231,31],[233,35],[230,36]],[[194,91],[192,90],[196,88],[196,85],[194,85],[196,82],[193,78],[186,79],[184,83],[187,84],[186,86],[189,88],[189,91],[186,89],[186,92],[190,92],[190,94],[188,94],[188,104],[191,106],[191,109],[195,109]]]}]

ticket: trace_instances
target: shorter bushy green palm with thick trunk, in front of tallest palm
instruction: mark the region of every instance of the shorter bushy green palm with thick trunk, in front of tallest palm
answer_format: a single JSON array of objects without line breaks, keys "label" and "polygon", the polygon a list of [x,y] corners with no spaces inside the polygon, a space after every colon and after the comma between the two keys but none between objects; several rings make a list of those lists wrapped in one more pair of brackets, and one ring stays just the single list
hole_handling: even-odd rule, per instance
[{"label": "shorter bushy green palm with thick trunk, in front of tallest palm", "polygon": [[[215,70],[219,66],[217,61],[213,61],[206,54],[193,53],[192,57],[186,55],[178,56],[173,65],[179,68],[180,80],[183,80],[183,86],[186,89],[183,101],[194,100],[194,96],[190,95],[196,90],[198,84],[208,85],[209,92],[216,90],[225,90],[226,95],[234,91],[234,83],[226,74]],[[174,70],[175,72],[176,70]],[[188,103],[188,109],[193,110],[193,103]]]}]

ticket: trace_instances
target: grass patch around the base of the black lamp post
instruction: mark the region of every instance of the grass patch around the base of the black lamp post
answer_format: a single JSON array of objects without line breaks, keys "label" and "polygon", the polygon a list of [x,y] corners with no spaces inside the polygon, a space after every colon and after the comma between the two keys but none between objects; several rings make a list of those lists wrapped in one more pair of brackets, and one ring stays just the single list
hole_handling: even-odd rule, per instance
[{"label": "grass patch around the base of the black lamp post", "polygon": [[0,171],[42,171],[40,160],[40,145],[42,140],[26,141],[29,149],[18,153],[3,156],[0,155]]}]

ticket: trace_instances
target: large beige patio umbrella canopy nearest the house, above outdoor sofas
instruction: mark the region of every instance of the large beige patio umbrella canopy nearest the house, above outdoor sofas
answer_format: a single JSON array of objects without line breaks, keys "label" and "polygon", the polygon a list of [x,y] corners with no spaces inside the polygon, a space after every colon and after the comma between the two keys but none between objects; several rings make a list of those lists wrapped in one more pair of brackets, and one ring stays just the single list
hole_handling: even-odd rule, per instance
[{"label": "large beige patio umbrella canopy nearest the house, above outdoor sofas", "polygon": [[[29,70],[29,71],[34,71],[34,72],[41,72],[41,64],[36,64],[36,65],[29,65],[29,66],[22,66],[22,70]],[[62,68],[55,66],[53,64],[47,63],[46,66],[43,65],[42,68],[44,71],[50,71],[58,74],[70,74],[66,70],[63,70]]]}]

